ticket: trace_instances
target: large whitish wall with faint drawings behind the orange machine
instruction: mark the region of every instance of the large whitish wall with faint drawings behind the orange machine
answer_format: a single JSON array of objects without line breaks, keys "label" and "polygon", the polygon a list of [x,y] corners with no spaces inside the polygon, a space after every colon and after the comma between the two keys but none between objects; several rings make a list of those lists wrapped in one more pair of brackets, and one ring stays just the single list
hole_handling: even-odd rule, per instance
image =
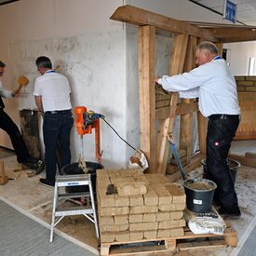
[{"label": "large whitish wall with faint drawings behind the orange machine", "polygon": [[[5,101],[7,113],[20,123],[18,110],[35,107],[34,65],[47,55],[72,87],[73,106],[100,112],[130,144],[140,148],[137,27],[109,20],[115,8],[133,5],[179,20],[222,22],[222,17],[186,0],[20,0],[0,7],[0,60],[7,64],[5,88],[14,89],[25,74],[30,84],[20,99]],[[162,51],[164,52],[164,50]],[[161,61],[157,74],[164,73]],[[72,132],[73,161],[80,141]],[[94,157],[94,136],[86,135],[85,157]],[[10,146],[0,133],[0,144]],[[102,164],[125,167],[133,151],[101,122]]]}]

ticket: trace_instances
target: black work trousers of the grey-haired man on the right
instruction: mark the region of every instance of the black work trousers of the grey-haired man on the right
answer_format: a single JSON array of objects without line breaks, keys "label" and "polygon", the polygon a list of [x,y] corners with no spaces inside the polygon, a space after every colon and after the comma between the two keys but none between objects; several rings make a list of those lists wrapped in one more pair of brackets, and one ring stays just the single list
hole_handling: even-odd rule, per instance
[{"label": "black work trousers of the grey-haired man on the right", "polygon": [[209,116],[206,178],[217,184],[214,200],[225,209],[236,209],[238,206],[234,181],[227,163],[238,125],[239,115]]}]

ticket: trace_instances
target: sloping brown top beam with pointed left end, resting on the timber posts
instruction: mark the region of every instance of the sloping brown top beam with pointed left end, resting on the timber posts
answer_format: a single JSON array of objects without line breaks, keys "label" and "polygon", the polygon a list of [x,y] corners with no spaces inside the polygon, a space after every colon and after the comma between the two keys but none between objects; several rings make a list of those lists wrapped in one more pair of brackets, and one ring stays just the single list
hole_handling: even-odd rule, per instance
[{"label": "sloping brown top beam with pointed left end, resting on the timber posts", "polygon": [[174,20],[167,16],[156,14],[138,7],[128,5],[118,7],[110,19],[128,22],[139,26],[152,25],[158,30],[168,31],[174,34],[189,34],[212,42],[218,42],[218,40],[212,35],[212,32],[208,29],[199,28],[187,22]]}]

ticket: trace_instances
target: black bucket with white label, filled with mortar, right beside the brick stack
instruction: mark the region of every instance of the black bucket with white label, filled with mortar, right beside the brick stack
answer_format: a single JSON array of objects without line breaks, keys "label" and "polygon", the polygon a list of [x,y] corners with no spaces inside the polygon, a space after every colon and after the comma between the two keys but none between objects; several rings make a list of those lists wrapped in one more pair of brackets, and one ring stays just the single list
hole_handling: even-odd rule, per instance
[{"label": "black bucket with white label, filled with mortar, right beside the brick stack", "polygon": [[183,182],[187,209],[194,212],[209,212],[217,185],[207,179],[188,179]]}]

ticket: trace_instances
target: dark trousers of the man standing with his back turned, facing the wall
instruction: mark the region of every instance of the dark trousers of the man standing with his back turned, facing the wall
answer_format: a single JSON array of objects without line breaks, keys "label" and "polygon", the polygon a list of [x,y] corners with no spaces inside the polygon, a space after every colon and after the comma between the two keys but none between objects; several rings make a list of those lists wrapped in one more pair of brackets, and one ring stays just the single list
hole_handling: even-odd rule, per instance
[{"label": "dark trousers of the man standing with his back turned, facing the wall", "polygon": [[46,112],[44,114],[43,134],[45,143],[45,161],[47,181],[55,182],[56,148],[60,145],[61,168],[70,164],[70,132],[74,125],[71,110]]}]

